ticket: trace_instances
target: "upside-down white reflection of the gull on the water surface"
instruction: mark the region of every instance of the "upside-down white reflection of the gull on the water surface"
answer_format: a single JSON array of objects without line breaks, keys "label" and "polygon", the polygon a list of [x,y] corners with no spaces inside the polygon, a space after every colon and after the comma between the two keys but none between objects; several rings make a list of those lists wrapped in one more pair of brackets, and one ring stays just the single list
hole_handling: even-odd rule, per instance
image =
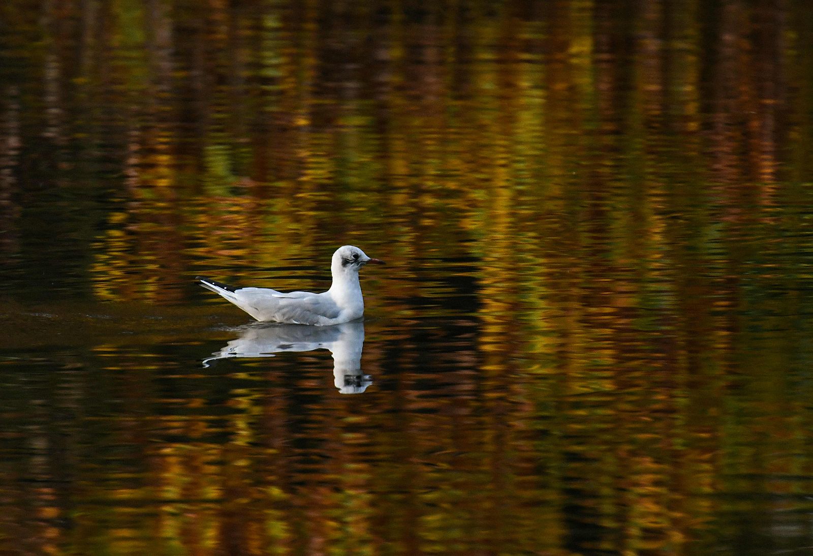
[{"label": "upside-down white reflection of the gull on the water surface", "polygon": [[333,326],[304,324],[251,324],[241,329],[240,337],[228,342],[203,360],[231,357],[273,357],[286,351],[330,350],[333,354],[333,378],[341,393],[362,393],[372,384],[372,378],[361,371],[364,346],[364,323],[356,320]]}]

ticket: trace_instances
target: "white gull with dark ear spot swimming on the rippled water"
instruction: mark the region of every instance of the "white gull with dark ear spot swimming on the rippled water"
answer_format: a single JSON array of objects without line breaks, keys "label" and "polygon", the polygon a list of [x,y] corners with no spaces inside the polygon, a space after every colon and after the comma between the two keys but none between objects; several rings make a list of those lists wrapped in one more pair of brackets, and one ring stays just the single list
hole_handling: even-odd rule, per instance
[{"label": "white gull with dark ear spot swimming on the rippled water", "polygon": [[219,293],[254,319],[287,324],[329,326],[359,319],[364,298],[359,269],[367,263],[384,264],[353,245],[343,245],[333,254],[330,271],[333,284],[323,293],[282,293],[270,288],[235,288],[198,276],[201,285]]}]

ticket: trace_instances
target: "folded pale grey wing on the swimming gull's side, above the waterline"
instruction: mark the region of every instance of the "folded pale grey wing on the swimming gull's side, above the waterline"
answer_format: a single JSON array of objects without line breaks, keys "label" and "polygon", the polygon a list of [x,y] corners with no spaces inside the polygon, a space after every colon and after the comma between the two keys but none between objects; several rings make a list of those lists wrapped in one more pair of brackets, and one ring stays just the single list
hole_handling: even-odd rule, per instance
[{"label": "folded pale grey wing on the swimming gull's side, above the waterline", "polygon": [[255,319],[292,324],[329,324],[341,313],[339,306],[323,293],[279,293],[264,288],[242,288],[235,292],[239,306]]}]

